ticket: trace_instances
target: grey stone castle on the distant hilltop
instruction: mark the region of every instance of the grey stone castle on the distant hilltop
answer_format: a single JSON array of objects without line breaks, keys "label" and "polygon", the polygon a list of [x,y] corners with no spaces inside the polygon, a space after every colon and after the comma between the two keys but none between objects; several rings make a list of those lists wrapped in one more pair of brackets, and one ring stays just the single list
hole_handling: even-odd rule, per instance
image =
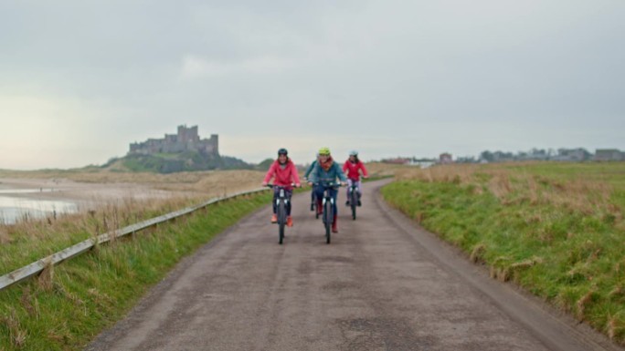
[{"label": "grey stone castle on the distant hilltop", "polygon": [[147,139],[132,142],[129,155],[151,155],[155,153],[180,153],[197,151],[205,155],[218,156],[218,135],[211,134],[210,139],[200,139],[197,126],[187,128],[178,126],[178,134],[165,134],[164,139]]}]

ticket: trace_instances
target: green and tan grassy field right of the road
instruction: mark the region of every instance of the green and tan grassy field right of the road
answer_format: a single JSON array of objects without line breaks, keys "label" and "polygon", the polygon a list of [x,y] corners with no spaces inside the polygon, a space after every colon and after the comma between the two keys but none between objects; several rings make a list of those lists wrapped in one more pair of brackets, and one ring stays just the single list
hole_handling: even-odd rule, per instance
[{"label": "green and tan grassy field right of the road", "polygon": [[625,163],[437,166],[383,195],[493,278],[625,345]]}]

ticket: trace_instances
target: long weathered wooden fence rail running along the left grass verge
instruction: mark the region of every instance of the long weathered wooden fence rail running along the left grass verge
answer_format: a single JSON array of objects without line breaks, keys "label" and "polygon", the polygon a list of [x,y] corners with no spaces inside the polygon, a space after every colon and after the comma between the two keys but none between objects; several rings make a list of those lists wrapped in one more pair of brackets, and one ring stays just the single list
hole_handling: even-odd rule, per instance
[{"label": "long weathered wooden fence rail running along the left grass verge", "polygon": [[79,255],[80,253],[89,251],[92,247],[96,245],[110,242],[111,239],[119,238],[128,234],[132,234],[133,232],[139,232],[139,231],[142,231],[143,229],[152,227],[159,223],[171,221],[175,218],[182,217],[186,214],[196,212],[197,210],[204,209],[208,205],[217,203],[219,201],[233,199],[238,196],[249,195],[249,194],[257,193],[260,191],[267,191],[267,188],[257,189],[253,191],[241,191],[241,192],[237,192],[235,194],[229,195],[229,196],[218,197],[218,198],[203,202],[196,206],[187,207],[185,209],[175,211],[175,212],[170,212],[162,216],[154,217],[143,222],[134,223],[132,225],[129,225],[127,227],[124,227],[115,231],[105,232],[101,235],[98,235],[95,238],[91,238],[91,239],[85,240],[84,242],[74,244],[72,246],[69,246],[66,249],[59,251],[58,253],[53,253],[49,255],[48,257],[44,257],[40,260],[37,260],[34,263],[30,263],[22,268],[16,269],[15,271],[9,274],[0,276],[0,291],[2,291],[3,289],[5,289],[6,287],[12,284],[16,284],[35,274],[41,273],[49,265],[55,265],[55,264],[61,263],[65,260],[68,260],[69,258]]}]

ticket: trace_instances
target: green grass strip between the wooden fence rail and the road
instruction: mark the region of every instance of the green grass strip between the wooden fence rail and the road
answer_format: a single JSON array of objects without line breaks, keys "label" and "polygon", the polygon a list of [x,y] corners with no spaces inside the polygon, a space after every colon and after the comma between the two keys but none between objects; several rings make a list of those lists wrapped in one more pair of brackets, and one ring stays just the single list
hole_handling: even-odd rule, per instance
[{"label": "green grass strip between the wooden fence rail and the road", "polygon": [[181,258],[268,203],[269,192],[222,201],[0,291],[0,350],[82,349]]}]

